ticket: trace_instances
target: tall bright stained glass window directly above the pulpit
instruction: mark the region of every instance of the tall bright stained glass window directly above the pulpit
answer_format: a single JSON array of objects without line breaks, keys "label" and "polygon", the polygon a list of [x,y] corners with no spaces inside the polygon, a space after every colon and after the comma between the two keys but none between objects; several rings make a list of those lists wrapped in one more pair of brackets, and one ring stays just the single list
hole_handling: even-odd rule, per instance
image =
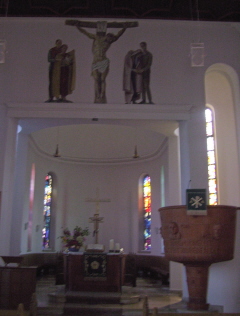
[{"label": "tall bright stained glass window directly above the pulpit", "polygon": [[213,111],[210,108],[205,110],[206,134],[207,134],[207,157],[208,157],[208,193],[209,205],[218,203],[217,196],[217,170],[216,170],[216,150],[214,135]]}]

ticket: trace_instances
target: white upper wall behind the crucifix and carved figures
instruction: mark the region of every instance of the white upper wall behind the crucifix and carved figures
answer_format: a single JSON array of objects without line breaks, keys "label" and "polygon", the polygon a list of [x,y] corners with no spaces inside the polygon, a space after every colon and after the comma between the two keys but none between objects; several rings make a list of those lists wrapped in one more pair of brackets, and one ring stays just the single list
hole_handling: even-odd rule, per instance
[{"label": "white upper wall behind the crucifix and carved figures", "polygon": [[[47,100],[47,54],[57,38],[68,44],[69,50],[76,50],[77,83],[69,99],[93,102],[92,41],[89,38],[75,27],[65,25],[62,18],[2,18],[0,22],[8,30],[6,62],[1,65],[5,78],[0,87],[2,102]],[[108,31],[116,33],[118,30]],[[190,63],[190,44],[199,40],[199,32],[205,44],[205,67],[194,68]],[[239,68],[239,33],[230,23],[205,22],[199,26],[189,21],[141,20],[139,27],[127,29],[107,52],[110,59],[108,103],[124,103],[123,59],[129,49],[138,49],[141,41],[148,43],[153,54],[151,88],[156,104],[203,106],[205,69],[216,61]]]}]

